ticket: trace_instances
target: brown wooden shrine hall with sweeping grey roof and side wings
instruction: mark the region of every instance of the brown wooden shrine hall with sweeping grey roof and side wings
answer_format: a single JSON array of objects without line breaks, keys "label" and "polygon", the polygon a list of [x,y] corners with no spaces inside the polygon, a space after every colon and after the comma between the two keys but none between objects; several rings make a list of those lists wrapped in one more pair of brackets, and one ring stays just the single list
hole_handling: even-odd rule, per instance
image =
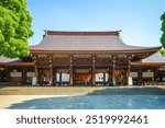
[{"label": "brown wooden shrine hall with sweeping grey roof and side wings", "polygon": [[120,31],[45,31],[31,56],[0,56],[0,83],[9,85],[165,84],[162,47],[130,46]]}]

